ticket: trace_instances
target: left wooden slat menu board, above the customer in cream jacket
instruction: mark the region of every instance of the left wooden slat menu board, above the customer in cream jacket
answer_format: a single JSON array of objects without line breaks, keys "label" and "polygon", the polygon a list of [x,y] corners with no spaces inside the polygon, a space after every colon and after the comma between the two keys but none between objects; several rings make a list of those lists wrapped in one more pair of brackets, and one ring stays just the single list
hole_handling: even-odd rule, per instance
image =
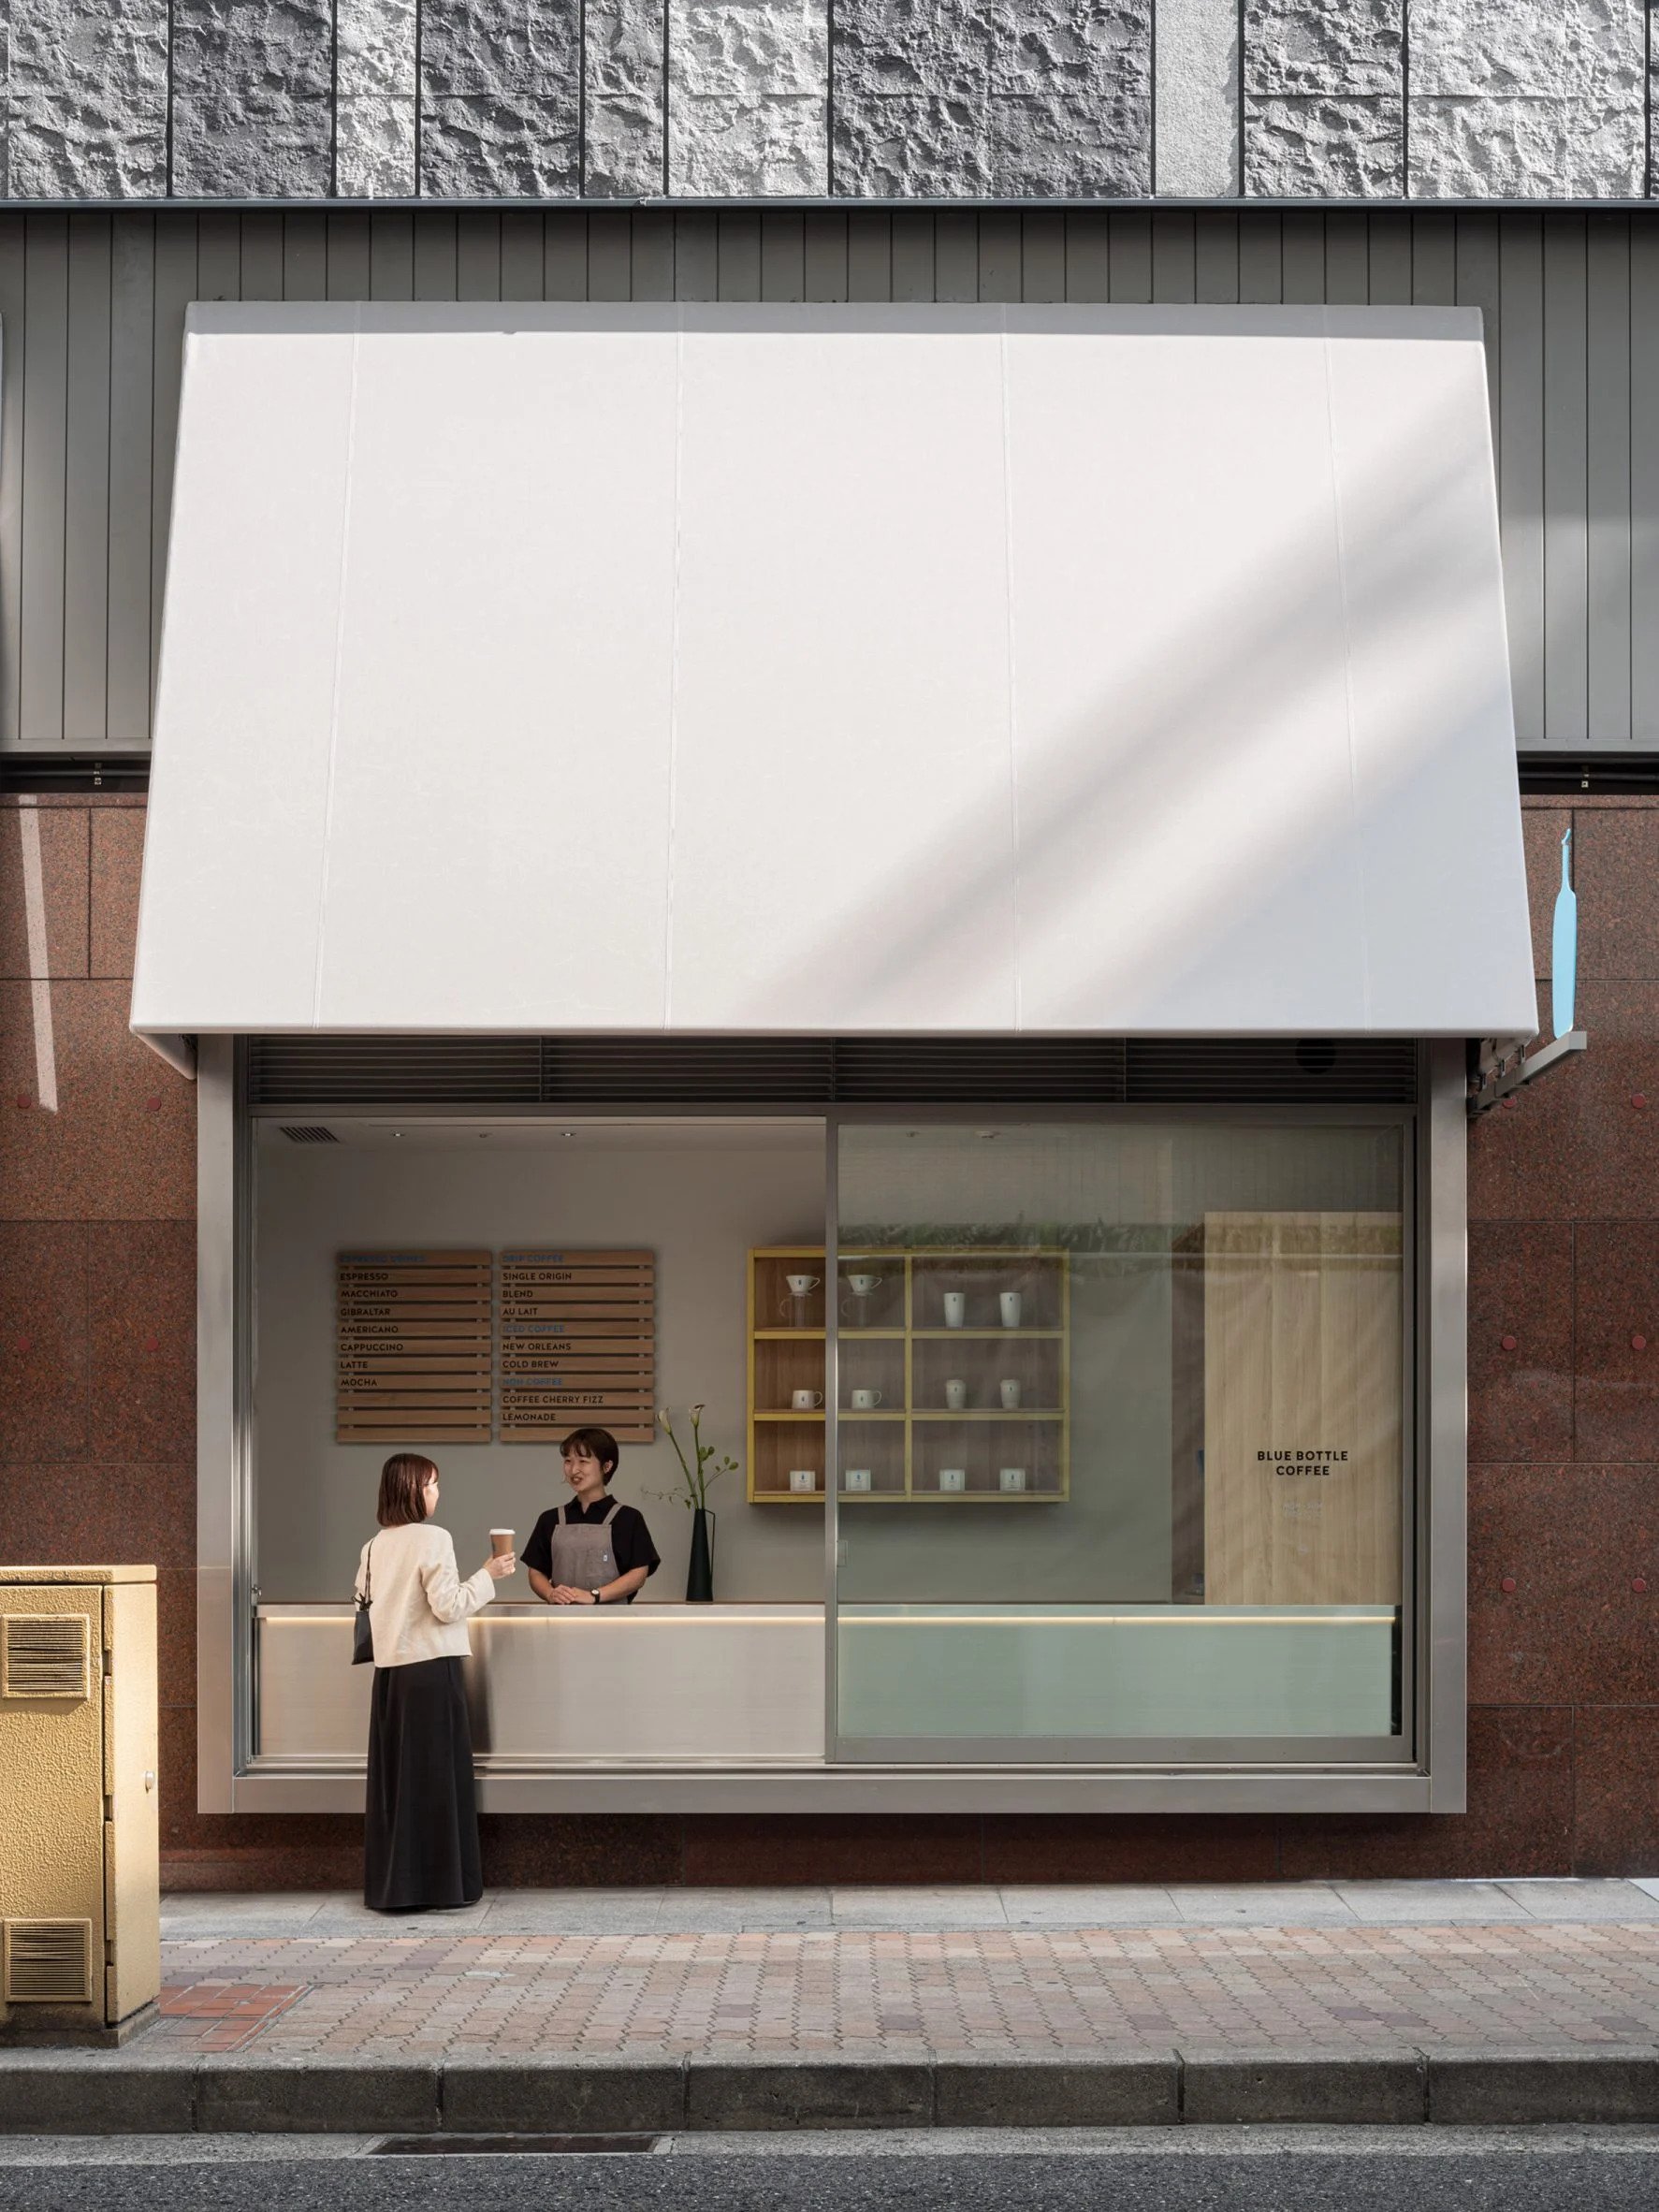
[{"label": "left wooden slat menu board, above the customer in cream jacket", "polygon": [[489,1252],[341,1252],[336,1314],[336,1444],[489,1442]]}]

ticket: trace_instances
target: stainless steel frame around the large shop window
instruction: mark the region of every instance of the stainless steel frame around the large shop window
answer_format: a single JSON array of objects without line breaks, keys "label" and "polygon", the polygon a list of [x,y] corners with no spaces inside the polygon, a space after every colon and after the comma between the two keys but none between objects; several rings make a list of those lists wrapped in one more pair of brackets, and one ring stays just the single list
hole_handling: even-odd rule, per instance
[{"label": "stainless steel frame around the large shop window", "polygon": [[[199,1812],[361,1812],[363,1776],[319,1761],[314,1772],[259,1772],[254,1743],[254,1515],[252,1515],[252,1117],[241,1091],[241,1046],[199,1040],[197,1099],[197,1809]],[[1270,1763],[1217,1759],[1175,1765],[1126,1747],[1121,1765],[825,1765],[768,1774],[498,1774],[480,1767],[487,1812],[1462,1812],[1467,1803],[1467,1119],[1464,1046],[1420,1046],[1416,1106],[1416,1332],[1409,1349],[1416,1385],[1413,1480],[1413,1637],[1407,1641],[1407,1710],[1416,1717],[1411,1765],[1307,1761],[1305,1752]],[[307,1119],[378,1117],[387,1108],[307,1106]],[[416,1108],[409,1119],[453,1117],[456,1106]],[[637,1108],[588,1104],[584,1113],[697,1117],[706,1106]],[[1323,1108],[1376,1119],[1378,1108]],[[549,1117],[549,1108],[491,1108],[491,1119]],[[834,1265],[836,1124],[872,1119],[867,1108],[825,1110],[827,1208],[825,1272]],[[949,1108],[880,1108],[891,1119],[945,1119]],[[1177,1119],[1212,1108],[1102,1108],[1102,1117]],[[1294,1113],[1294,1110],[1292,1110]],[[1228,1119],[1283,1121],[1285,1108],[1221,1108]],[[816,1117],[816,1115],[814,1115]],[[1037,1108],[969,1108],[964,1119],[1033,1119]],[[1051,1119],[1088,1119],[1077,1106]],[[825,1334],[827,1400],[834,1407],[836,1332]],[[825,1425],[827,1464],[836,1467],[834,1420]],[[825,1498],[825,1568],[834,1588],[838,1515]],[[834,1604],[825,1604],[834,1639]],[[834,1659],[830,1644],[827,1657]],[[827,1688],[827,1743],[834,1743],[834,1666]]]}]

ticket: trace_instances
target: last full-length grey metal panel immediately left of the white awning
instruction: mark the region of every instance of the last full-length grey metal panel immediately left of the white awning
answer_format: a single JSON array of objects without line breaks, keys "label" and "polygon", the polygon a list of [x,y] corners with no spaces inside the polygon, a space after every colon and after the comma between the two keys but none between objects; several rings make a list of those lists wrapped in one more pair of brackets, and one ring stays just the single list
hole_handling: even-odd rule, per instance
[{"label": "last full-length grey metal panel immediately left of the white awning", "polygon": [[[0,248],[0,268],[4,250]],[[4,312],[0,307],[0,312]],[[7,347],[7,380],[11,347]],[[7,398],[7,422],[13,420]],[[155,217],[111,226],[108,349],[108,703],[113,750],[150,743],[150,515],[155,449]],[[0,493],[11,471],[0,451]],[[0,511],[4,500],[0,498]],[[11,593],[7,593],[11,602]],[[13,739],[15,741],[15,739]]]}]

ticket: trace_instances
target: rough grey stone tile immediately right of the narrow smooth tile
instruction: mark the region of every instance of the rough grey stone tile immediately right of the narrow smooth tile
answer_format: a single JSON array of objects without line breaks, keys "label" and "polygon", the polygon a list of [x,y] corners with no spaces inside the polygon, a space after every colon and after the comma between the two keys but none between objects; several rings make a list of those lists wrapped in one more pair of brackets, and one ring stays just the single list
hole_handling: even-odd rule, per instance
[{"label": "rough grey stone tile immediately right of the narrow smooth tile", "polygon": [[1243,40],[1248,195],[1402,192],[1405,0],[1245,0]]}]

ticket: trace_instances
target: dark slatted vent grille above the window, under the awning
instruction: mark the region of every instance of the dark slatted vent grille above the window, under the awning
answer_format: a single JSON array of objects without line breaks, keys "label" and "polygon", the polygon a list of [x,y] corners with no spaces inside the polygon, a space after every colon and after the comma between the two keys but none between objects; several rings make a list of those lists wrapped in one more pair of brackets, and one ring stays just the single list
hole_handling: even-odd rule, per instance
[{"label": "dark slatted vent grille above the window, under the awning", "polygon": [[[254,1106],[1409,1104],[1409,1037],[252,1037]],[[296,1144],[327,1144],[314,1124]]]}]

